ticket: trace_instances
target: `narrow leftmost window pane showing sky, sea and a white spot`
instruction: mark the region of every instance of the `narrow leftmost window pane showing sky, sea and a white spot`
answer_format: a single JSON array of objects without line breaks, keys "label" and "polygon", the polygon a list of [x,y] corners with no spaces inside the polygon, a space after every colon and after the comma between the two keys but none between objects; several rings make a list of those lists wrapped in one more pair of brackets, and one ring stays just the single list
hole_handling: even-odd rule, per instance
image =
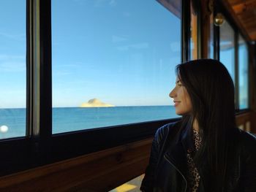
[{"label": "narrow leftmost window pane showing sky, sea and a white spot", "polygon": [[26,134],[26,1],[0,1],[0,139]]}]

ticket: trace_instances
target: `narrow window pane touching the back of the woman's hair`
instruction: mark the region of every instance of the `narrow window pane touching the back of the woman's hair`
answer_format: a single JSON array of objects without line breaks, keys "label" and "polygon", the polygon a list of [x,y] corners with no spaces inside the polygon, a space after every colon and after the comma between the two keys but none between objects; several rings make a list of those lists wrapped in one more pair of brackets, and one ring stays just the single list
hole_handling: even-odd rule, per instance
[{"label": "narrow window pane touching the back of the woman's hair", "polygon": [[235,82],[234,31],[227,21],[219,27],[219,61],[227,67]]}]

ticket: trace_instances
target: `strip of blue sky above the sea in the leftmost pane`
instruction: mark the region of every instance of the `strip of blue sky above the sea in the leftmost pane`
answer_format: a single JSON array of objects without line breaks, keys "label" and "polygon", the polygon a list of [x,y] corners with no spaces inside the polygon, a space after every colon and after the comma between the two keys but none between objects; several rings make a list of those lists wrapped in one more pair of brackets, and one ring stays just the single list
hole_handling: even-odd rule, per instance
[{"label": "strip of blue sky above the sea in the leftmost pane", "polygon": [[26,105],[25,0],[0,2],[0,108]]}]

